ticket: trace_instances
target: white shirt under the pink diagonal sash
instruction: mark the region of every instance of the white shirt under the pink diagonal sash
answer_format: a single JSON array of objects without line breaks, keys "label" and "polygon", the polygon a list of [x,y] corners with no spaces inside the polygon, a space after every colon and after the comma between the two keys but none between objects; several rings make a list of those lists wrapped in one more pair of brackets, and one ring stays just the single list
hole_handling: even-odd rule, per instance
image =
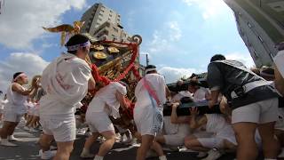
[{"label": "white shirt under the pink diagonal sash", "polygon": [[[165,79],[162,75],[159,74],[147,74],[144,78],[152,84],[150,87],[154,87],[153,90],[156,92],[158,99],[162,104],[164,104],[167,99],[166,99],[166,83]],[[136,88],[135,88],[135,96],[136,96],[136,103],[135,103],[135,108],[144,108],[151,105],[151,99],[149,97],[149,93],[147,92],[144,84],[143,84],[143,79],[141,79]]]}]

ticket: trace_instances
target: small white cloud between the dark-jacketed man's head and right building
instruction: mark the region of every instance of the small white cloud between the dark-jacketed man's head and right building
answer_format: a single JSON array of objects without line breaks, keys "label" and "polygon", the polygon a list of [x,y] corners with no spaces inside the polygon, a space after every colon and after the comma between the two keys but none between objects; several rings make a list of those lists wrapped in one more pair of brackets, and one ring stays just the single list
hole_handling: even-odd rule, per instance
[{"label": "small white cloud between the dark-jacketed man's head and right building", "polygon": [[227,60],[238,60],[241,61],[247,68],[251,68],[255,66],[254,60],[250,57],[249,53],[240,53],[240,52],[233,52],[225,54],[225,58]]}]

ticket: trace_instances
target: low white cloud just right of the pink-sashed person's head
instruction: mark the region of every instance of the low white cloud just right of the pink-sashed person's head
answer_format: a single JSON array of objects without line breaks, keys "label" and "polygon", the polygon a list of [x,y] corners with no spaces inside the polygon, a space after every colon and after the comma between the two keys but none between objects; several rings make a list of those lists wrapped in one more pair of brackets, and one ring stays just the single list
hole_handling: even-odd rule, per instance
[{"label": "low white cloud just right of the pink-sashed person's head", "polygon": [[191,76],[193,73],[200,73],[201,71],[195,68],[171,68],[171,67],[162,67],[158,70],[162,76],[165,76],[166,83],[174,83],[181,77]]}]

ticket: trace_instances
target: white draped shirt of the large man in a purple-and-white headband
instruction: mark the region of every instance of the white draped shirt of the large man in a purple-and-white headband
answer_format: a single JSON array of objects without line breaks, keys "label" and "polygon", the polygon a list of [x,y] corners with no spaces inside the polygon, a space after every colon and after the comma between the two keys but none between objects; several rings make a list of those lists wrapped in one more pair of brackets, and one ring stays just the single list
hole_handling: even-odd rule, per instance
[{"label": "white draped shirt of the large man in a purple-and-white headband", "polygon": [[88,92],[91,68],[82,59],[64,53],[44,70],[42,86],[46,94],[40,100],[40,115],[74,114],[75,106]]}]

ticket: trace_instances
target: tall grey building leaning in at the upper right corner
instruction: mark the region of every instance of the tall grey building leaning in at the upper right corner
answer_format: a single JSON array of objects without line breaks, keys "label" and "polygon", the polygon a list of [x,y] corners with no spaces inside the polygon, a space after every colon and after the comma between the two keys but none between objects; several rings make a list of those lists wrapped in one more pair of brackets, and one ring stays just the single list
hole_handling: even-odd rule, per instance
[{"label": "tall grey building leaning in at the upper right corner", "polygon": [[275,45],[284,41],[284,1],[224,1],[234,12],[240,36],[256,67],[272,66],[278,52]]}]

